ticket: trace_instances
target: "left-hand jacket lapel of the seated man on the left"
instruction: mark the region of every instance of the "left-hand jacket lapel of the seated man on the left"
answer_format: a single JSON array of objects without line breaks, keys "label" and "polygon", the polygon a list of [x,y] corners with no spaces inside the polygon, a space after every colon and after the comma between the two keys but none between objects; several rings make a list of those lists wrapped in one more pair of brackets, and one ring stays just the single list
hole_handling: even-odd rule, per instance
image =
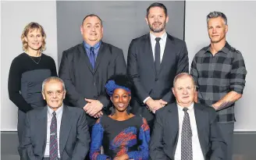
[{"label": "left-hand jacket lapel of the seated man on the left", "polygon": [[[47,115],[48,115],[48,107],[44,106],[44,108],[41,110],[41,114],[37,116],[38,120],[38,134],[40,134],[40,137],[42,137],[40,140],[38,140],[38,146],[44,146],[45,149],[46,146],[46,138],[47,138]],[[44,150],[42,155],[44,155]]]}]

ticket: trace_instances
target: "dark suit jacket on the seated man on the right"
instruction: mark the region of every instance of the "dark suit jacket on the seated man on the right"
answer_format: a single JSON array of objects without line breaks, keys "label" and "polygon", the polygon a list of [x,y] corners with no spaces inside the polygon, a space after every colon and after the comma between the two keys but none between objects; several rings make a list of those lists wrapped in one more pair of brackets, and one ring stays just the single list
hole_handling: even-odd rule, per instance
[{"label": "dark suit jacket on the seated man on the right", "polygon": [[[214,108],[194,103],[194,115],[204,159],[223,159],[223,148],[226,148],[226,143],[217,126]],[[160,108],[155,116],[149,148],[151,159],[174,160],[179,137],[179,116],[176,103]]]}]

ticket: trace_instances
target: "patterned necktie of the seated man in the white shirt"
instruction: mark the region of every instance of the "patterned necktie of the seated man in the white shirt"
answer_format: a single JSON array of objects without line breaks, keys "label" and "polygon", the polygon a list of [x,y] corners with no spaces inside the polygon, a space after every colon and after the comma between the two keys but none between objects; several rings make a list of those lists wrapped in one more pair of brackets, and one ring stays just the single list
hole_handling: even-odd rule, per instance
[{"label": "patterned necktie of the seated man in the white shirt", "polygon": [[184,118],[181,131],[181,160],[193,160],[192,130],[188,108],[183,108]]}]

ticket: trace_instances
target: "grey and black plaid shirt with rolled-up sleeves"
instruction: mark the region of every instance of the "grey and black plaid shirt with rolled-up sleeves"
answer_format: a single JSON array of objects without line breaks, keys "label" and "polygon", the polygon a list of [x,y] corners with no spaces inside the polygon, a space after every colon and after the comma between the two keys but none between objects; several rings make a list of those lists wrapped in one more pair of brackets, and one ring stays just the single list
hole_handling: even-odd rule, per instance
[{"label": "grey and black plaid shirt with rolled-up sleeves", "polygon": [[[215,56],[211,53],[210,45],[197,52],[190,74],[197,85],[198,102],[212,105],[229,91],[243,94],[247,70],[242,54],[226,42]],[[218,122],[234,122],[234,104],[219,110],[217,114]]]}]

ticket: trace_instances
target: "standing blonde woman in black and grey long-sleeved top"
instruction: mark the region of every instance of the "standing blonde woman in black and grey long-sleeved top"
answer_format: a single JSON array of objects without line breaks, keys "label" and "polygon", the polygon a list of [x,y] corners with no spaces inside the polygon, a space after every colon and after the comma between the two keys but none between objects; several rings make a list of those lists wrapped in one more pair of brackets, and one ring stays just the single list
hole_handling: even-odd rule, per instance
[{"label": "standing blonde woman in black and grey long-sleeved top", "polygon": [[40,24],[29,23],[21,35],[24,52],[12,60],[9,70],[9,99],[19,108],[19,141],[26,112],[46,105],[41,95],[43,80],[49,76],[57,76],[54,59],[42,53],[45,50],[45,38]]}]

